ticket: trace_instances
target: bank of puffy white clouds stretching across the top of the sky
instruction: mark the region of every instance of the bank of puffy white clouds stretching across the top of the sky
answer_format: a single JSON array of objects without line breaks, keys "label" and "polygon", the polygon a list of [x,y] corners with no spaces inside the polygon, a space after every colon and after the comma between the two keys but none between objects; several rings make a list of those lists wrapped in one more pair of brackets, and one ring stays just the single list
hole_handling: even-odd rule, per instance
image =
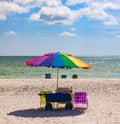
[{"label": "bank of puffy white clouds stretching across the top of the sky", "polygon": [[[83,4],[85,6],[81,7]],[[36,8],[37,12],[32,11]],[[71,25],[83,16],[100,20],[104,25],[118,25],[119,17],[114,13],[110,14],[109,10],[120,11],[120,1],[66,0],[62,3],[62,0],[2,0],[0,21],[5,21],[14,14],[30,13],[29,20],[48,25]]]}]

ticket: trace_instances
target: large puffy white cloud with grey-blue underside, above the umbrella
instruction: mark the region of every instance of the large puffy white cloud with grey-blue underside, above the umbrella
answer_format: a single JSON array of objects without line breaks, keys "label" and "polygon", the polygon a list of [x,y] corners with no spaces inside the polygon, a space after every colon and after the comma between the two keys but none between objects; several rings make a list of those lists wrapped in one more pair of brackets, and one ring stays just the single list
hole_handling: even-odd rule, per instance
[{"label": "large puffy white cloud with grey-blue underside, above the umbrella", "polygon": [[43,7],[38,13],[31,15],[30,20],[40,21],[49,25],[52,24],[72,24],[77,17],[77,13],[65,6]]}]

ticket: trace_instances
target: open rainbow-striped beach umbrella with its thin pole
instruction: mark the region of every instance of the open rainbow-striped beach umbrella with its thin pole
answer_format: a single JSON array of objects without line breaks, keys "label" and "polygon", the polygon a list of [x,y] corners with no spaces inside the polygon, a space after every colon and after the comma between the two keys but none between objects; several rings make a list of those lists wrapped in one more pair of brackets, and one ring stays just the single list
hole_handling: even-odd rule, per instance
[{"label": "open rainbow-striped beach umbrella with its thin pole", "polygon": [[58,87],[58,77],[59,77],[59,68],[83,68],[89,69],[90,65],[84,61],[79,60],[78,58],[62,53],[47,53],[42,56],[39,56],[31,61],[26,62],[27,66],[43,66],[43,67],[52,67],[57,68],[57,87]]}]

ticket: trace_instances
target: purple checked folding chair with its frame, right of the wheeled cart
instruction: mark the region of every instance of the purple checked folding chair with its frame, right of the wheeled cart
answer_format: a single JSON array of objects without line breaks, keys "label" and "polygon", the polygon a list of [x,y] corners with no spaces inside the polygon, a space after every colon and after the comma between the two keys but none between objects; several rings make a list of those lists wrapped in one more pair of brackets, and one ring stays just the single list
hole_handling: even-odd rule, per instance
[{"label": "purple checked folding chair with its frame, right of the wheeled cart", "polygon": [[74,92],[74,109],[87,109],[88,99],[86,92]]}]

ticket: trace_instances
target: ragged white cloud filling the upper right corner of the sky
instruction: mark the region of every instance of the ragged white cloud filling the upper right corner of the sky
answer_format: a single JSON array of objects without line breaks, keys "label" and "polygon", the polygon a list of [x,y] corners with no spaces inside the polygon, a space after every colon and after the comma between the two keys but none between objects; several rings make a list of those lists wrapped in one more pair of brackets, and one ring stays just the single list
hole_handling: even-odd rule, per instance
[{"label": "ragged white cloud filling the upper right corner of the sky", "polygon": [[87,7],[79,10],[79,15],[86,16],[91,19],[101,20],[105,25],[118,25],[115,16],[106,12],[107,9],[120,10],[120,1],[118,0],[67,0],[67,5],[77,5],[86,3]]}]

